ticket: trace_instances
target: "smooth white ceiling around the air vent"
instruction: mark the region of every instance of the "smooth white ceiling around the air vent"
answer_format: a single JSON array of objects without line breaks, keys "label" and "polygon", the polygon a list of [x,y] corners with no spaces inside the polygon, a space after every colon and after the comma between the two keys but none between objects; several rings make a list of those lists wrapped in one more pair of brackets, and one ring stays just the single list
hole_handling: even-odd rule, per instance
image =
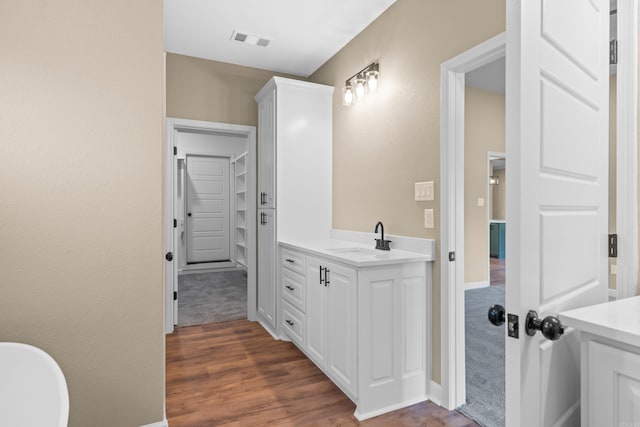
[{"label": "smooth white ceiling around the air vent", "polygon": [[165,51],[308,77],[395,1],[164,0]]}]

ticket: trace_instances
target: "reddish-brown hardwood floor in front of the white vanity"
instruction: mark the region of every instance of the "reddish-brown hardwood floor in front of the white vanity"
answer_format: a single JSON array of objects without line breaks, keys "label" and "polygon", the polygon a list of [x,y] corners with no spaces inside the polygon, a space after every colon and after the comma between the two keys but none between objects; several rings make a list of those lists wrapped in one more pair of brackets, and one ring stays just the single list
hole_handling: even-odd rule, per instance
[{"label": "reddish-brown hardwood floor in front of the white vanity", "polygon": [[477,426],[432,402],[358,422],[355,405],[293,344],[247,320],[178,328],[166,354],[171,427]]}]

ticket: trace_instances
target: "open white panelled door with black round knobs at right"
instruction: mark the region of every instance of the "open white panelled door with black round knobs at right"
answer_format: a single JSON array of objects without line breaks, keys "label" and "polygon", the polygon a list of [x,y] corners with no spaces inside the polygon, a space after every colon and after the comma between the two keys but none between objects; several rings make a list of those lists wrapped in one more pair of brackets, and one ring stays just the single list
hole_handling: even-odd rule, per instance
[{"label": "open white panelled door with black round knobs at right", "polygon": [[525,333],[607,298],[609,0],[507,1],[506,424],[580,423],[576,333]]}]

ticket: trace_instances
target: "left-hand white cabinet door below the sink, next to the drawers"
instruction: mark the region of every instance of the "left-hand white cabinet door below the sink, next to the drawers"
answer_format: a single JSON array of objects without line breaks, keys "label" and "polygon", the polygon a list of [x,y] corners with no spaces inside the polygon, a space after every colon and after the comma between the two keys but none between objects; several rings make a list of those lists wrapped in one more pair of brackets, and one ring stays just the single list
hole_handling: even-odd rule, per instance
[{"label": "left-hand white cabinet door below the sink, next to the drawers", "polygon": [[[326,336],[326,290],[324,283],[320,283],[320,270],[322,261],[317,258],[307,257],[306,292],[306,338],[305,350],[318,366],[325,366],[327,357]],[[324,269],[324,266],[322,266]],[[323,279],[324,282],[324,279]]]}]

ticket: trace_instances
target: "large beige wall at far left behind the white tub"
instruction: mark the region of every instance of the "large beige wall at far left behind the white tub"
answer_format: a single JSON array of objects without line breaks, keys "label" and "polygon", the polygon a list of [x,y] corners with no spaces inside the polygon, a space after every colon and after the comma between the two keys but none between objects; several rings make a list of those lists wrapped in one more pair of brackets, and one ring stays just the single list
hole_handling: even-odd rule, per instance
[{"label": "large beige wall at far left behind the white tub", "polygon": [[0,3],[0,341],[70,426],[163,418],[162,2]]}]

